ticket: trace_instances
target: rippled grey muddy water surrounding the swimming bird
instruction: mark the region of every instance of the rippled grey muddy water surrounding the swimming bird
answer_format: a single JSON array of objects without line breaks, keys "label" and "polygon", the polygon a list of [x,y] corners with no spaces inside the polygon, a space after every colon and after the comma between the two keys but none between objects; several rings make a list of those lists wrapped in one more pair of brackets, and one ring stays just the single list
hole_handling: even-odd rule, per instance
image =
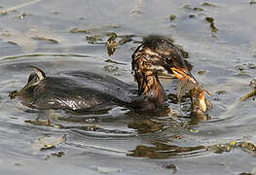
[{"label": "rippled grey muddy water surrounding the swimming bird", "polygon": [[[256,4],[208,3],[0,2],[1,174],[254,173],[255,101],[238,99],[256,75]],[[112,56],[105,47],[110,32],[117,42],[128,38]],[[173,99],[177,80],[170,79],[162,79],[170,109],[163,117],[123,108],[84,116],[37,111],[8,97],[25,85],[29,65],[47,75],[109,74],[135,87],[130,55],[148,34],[169,36],[190,54],[193,74],[212,93],[208,121],[190,116],[188,99]]]}]

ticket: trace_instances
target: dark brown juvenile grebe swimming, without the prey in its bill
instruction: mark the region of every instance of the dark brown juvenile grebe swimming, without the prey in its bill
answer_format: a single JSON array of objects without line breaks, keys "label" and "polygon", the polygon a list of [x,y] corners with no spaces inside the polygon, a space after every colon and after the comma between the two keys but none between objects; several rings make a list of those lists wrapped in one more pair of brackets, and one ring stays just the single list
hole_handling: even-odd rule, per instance
[{"label": "dark brown juvenile grebe swimming, without the prey in its bill", "polygon": [[125,106],[135,111],[156,111],[163,109],[166,99],[158,73],[174,73],[179,79],[186,77],[197,83],[181,50],[165,37],[144,39],[131,59],[137,92],[110,76],[72,71],[47,77],[42,70],[33,67],[35,73],[18,91],[18,97],[26,106],[37,109],[97,111]]}]

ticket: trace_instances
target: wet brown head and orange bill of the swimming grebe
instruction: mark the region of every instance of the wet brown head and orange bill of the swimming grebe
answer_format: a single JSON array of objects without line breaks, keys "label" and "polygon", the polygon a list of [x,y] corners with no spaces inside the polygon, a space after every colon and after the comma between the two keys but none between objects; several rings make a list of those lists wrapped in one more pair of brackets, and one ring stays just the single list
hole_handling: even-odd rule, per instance
[{"label": "wet brown head and orange bill of the swimming grebe", "polygon": [[136,70],[136,64],[142,64],[145,70],[174,74],[178,79],[185,78],[197,83],[190,73],[192,66],[186,61],[183,52],[168,38],[155,35],[145,38],[131,58],[132,70]]}]

